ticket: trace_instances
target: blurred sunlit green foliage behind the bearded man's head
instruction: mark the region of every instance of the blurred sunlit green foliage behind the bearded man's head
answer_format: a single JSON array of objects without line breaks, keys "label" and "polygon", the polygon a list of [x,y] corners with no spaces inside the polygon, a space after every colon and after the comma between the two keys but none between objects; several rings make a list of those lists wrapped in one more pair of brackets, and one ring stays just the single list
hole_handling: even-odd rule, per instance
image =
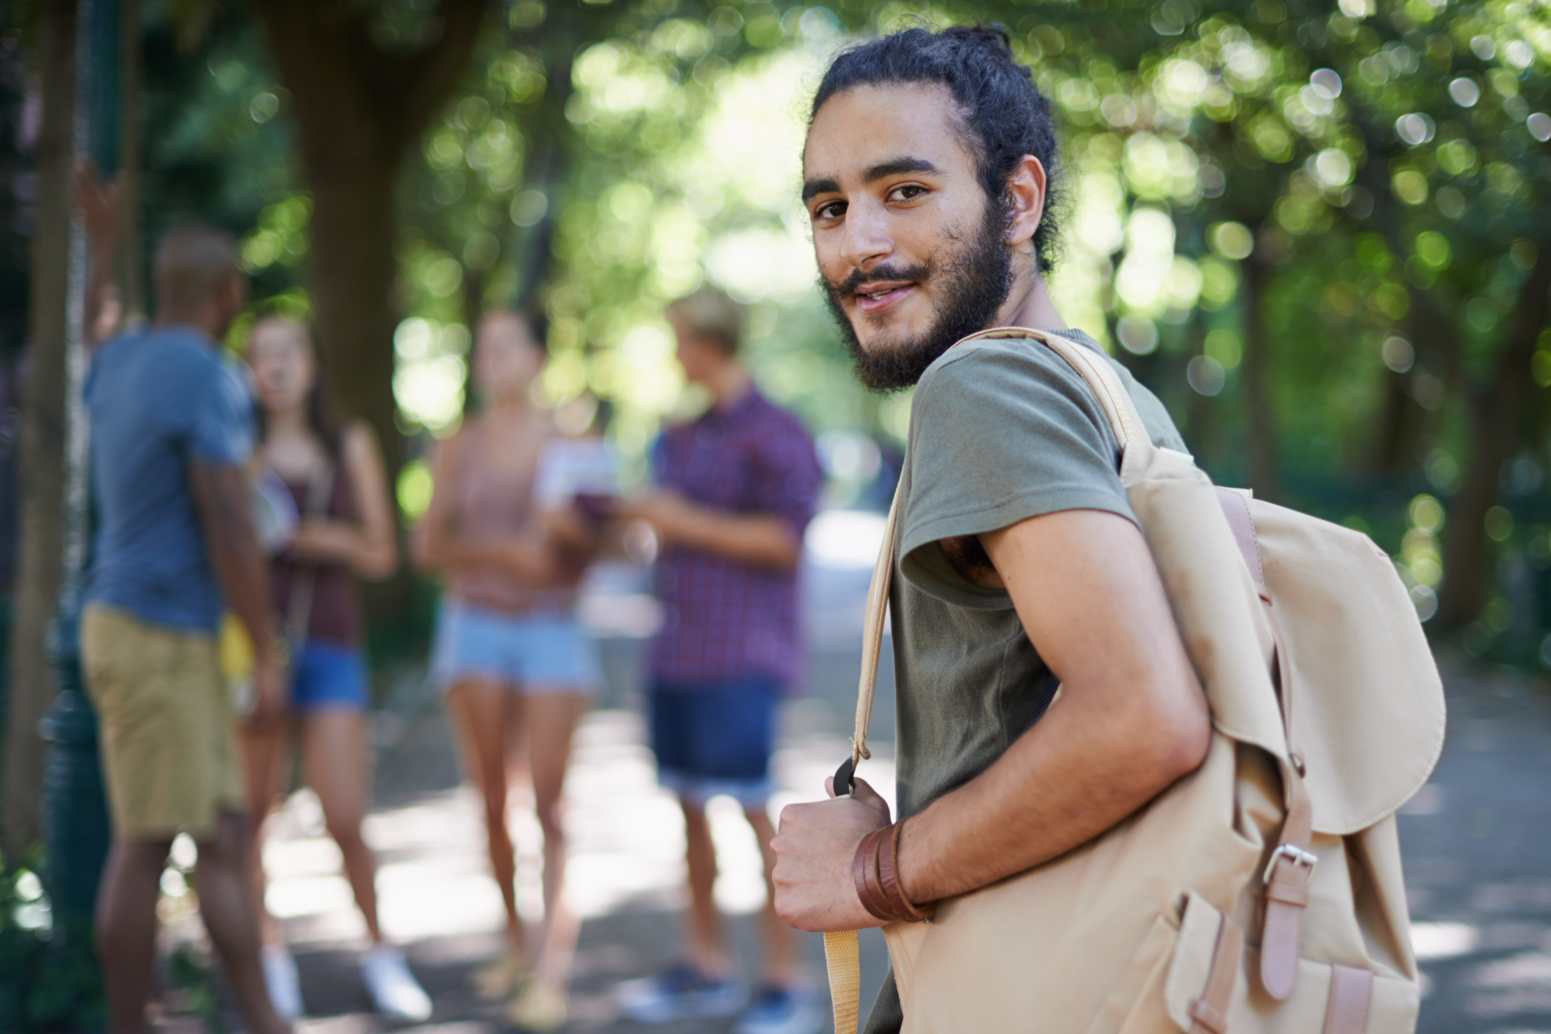
[{"label": "blurred sunlit green foliage behind the bearded man's head", "polygon": [[[378,6],[374,42],[413,48],[425,5]],[[409,434],[456,423],[478,313],[537,301],[552,316],[546,391],[610,400],[613,434],[639,457],[693,405],[662,305],[709,279],[748,302],[751,364],[813,429],[903,440],[907,395],[855,384],[814,287],[796,205],[803,107],[847,34],[994,20],[1062,129],[1052,290],[1069,322],[1159,392],[1214,476],[1370,530],[1424,609],[1446,572],[1436,544],[1416,546],[1411,501],[1453,507],[1473,457],[1506,454],[1481,507],[1512,530],[1477,512],[1480,527],[1436,535],[1486,543],[1508,594],[1492,598],[1518,594],[1509,631],[1492,631],[1503,608],[1478,623],[1483,650],[1551,625],[1539,589],[1512,589],[1539,584],[1512,572],[1540,570],[1534,529],[1551,521],[1551,338],[1514,336],[1551,248],[1543,5],[501,11],[400,184],[396,394]],[[242,229],[256,293],[304,304],[310,202],[285,91],[236,9],[217,9],[191,51],[177,25],[154,11],[147,33],[150,211]],[[1494,425],[1514,378],[1534,391]]]}]

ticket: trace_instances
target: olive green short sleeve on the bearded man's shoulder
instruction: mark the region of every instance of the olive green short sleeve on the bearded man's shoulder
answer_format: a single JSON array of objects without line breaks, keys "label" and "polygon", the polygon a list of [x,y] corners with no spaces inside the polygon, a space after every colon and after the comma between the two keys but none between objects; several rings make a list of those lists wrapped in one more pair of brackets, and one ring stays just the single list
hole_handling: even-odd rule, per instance
[{"label": "olive green short sleeve on the bearded man's shoulder", "polygon": [[901,570],[949,603],[1005,608],[1008,595],[960,575],[940,539],[1061,510],[1135,516],[1114,433],[1064,360],[1027,339],[960,347],[927,371],[912,403]]}]

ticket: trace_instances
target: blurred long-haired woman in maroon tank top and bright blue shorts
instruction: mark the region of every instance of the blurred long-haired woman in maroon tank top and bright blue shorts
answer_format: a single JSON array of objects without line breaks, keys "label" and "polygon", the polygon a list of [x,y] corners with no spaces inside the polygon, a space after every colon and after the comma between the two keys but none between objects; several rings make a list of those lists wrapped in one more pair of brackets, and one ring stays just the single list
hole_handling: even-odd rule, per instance
[{"label": "blurred long-haired woman in maroon tank top and bright blue shorts", "polygon": [[371,947],[361,977],[378,1011],[423,1020],[431,1001],[409,974],[403,953],[383,941],[377,924],[377,862],[361,839],[369,798],[366,741],[368,681],[361,650],[357,578],[386,578],[399,566],[392,502],[382,451],[371,428],[330,419],[307,329],[296,321],[261,319],[248,338],[257,388],[261,440],[257,477],[295,510],[287,544],[270,564],[276,623],[287,637],[292,727],[239,736],[253,822],[253,877],[264,936],[264,974],[275,1008],[302,1014],[296,964],[279,924],[264,907],[264,819],[281,800],[292,735],[301,774],[318,794],[329,836],[340,845],[344,876],[366,921]]}]

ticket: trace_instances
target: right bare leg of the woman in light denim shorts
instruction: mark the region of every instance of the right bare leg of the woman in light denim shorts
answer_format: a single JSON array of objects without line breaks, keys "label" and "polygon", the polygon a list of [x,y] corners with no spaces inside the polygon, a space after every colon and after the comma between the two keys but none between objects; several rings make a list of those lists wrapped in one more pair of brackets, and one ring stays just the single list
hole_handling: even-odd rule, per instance
[{"label": "right bare leg of the woman in light denim shorts", "polygon": [[585,695],[560,687],[532,687],[523,696],[534,811],[544,834],[544,933],[535,972],[557,987],[571,975],[579,925],[565,904],[566,832],[560,797],[571,763],[571,736],[586,705]]}]

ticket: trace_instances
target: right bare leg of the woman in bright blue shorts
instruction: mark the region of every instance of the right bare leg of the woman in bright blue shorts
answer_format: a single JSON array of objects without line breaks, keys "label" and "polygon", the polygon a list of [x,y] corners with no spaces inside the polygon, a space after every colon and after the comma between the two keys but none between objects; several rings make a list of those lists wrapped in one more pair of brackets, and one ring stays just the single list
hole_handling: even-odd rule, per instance
[{"label": "right bare leg of the woman in bright blue shorts", "polygon": [[372,944],[383,939],[377,924],[377,859],[361,839],[366,817],[366,713],[360,707],[318,707],[301,718],[301,770],[323,805],[329,836],[344,856],[344,877],[366,921]]}]

